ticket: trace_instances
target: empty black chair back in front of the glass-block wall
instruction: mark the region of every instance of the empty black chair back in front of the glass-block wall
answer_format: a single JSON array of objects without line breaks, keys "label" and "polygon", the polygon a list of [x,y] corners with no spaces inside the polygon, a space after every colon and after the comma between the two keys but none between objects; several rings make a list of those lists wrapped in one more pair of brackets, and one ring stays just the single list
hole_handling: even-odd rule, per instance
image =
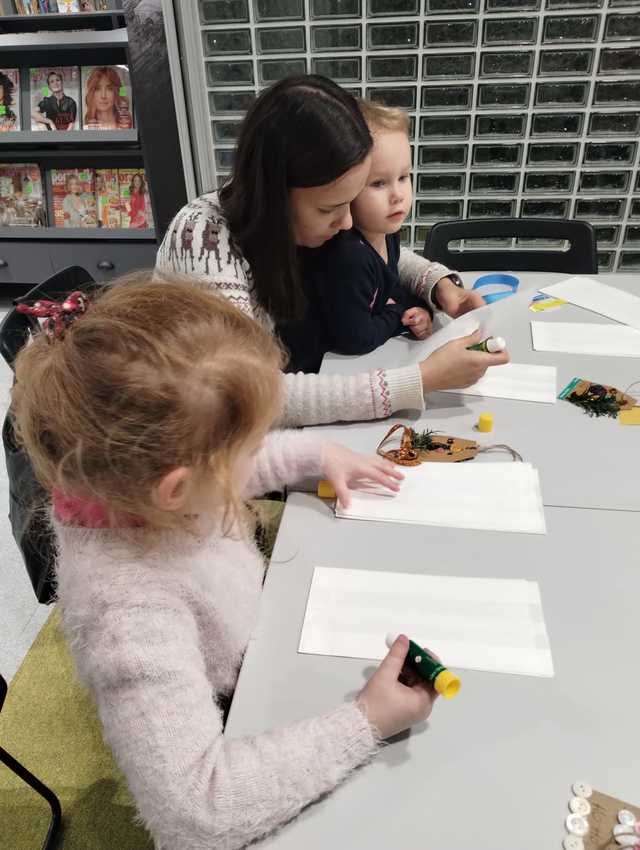
[{"label": "empty black chair back in front of the glass-block wall", "polygon": [[[567,250],[480,248],[449,250],[449,243],[480,239],[562,239]],[[547,218],[489,218],[441,221],[431,228],[424,256],[458,271],[520,271],[595,274],[598,271],[596,237],[586,221]]]}]

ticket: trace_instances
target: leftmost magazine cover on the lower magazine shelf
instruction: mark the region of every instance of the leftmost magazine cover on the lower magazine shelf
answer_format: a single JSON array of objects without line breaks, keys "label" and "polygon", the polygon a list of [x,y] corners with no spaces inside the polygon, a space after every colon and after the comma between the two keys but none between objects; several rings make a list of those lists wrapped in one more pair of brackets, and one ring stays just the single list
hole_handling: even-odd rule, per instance
[{"label": "leftmost magazine cover on the lower magazine shelf", "polygon": [[45,227],[46,223],[40,167],[0,165],[0,227]]}]

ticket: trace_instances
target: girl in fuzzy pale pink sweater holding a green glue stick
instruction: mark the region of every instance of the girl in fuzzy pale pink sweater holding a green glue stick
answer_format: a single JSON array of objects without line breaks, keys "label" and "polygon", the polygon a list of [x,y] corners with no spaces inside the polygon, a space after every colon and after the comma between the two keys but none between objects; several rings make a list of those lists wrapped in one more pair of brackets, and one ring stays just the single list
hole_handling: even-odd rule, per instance
[{"label": "girl in fuzzy pale pink sweater holding a green glue stick", "polygon": [[225,738],[264,572],[243,502],[324,476],[348,503],[349,487],[396,490],[402,475],[384,458],[271,431],[281,350],[204,285],[142,274],[88,306],[74,295],[47,309],[46,333],[19,354],[12,411],[53,494],[80,676],[156,846],[243,847],[426,718],[433,699],[399,680],[401,637],[355,701]]}]

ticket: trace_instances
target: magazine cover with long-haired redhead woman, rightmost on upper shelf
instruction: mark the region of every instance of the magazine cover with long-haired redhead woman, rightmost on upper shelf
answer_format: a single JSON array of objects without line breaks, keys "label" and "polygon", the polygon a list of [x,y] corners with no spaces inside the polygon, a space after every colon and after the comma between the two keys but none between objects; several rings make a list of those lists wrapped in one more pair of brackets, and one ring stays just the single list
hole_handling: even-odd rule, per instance
[{"label": "magazine cover with long-haired redhead woman, rightmost on upper shelf", "polygon": [[82,129],[133,127],[131,78],[126,65],[82,68]]}]

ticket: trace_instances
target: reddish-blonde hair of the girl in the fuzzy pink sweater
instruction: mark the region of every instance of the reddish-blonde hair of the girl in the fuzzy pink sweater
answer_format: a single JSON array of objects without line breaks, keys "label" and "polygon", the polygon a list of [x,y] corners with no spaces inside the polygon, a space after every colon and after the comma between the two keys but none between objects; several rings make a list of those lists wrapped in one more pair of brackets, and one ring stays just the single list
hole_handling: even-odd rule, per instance
[{"label": "reddish-blonde hair of the girl in the fuzzy pink sweater", "polygon": [[40,333],[22,349],[17,437],[47,490],[155,528],[187,527],[151,493],[188,467],[211,480],[228,530],[243,513],[233,466],[280,414],[281,365],[278,343],[204,284],[132,275],[105,287],[63,338]]}]

